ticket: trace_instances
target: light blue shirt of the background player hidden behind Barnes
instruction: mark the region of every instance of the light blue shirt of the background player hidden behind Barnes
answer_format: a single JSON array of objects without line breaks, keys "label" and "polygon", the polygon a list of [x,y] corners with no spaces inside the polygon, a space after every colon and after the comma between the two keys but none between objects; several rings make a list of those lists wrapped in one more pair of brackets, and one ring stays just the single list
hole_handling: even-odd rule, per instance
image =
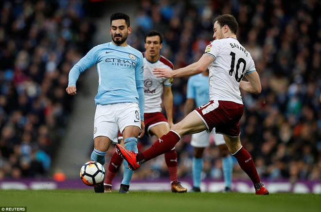
[{"label": "light blue shirt of the background player hidden behind Barnes", "polygon": [[194,99],[196,106],[202,106],[210,101],[209,77],[199,73],[187,81],[187,99]]}]

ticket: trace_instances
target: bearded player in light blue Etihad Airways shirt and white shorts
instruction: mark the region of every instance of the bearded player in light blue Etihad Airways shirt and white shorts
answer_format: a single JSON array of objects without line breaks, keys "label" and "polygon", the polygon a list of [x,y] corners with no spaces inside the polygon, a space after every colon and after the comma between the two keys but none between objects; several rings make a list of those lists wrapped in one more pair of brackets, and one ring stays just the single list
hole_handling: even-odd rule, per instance
[{"label": "bearded player in light blue Etihad Airways shirt and white shorts", "polygon": [[[93,47],[69,73],[66,91],[75,95],[79,75],[96,64],[98,93],[95,97],[94,149],[90,159],[101,164],[105,163],[110,144],[118,142],[119,131],[124,137],[125,148],[136,153],[137,138],[144,134],[143,54],[127,44],[127,35],[131,30],[130,19],[126,14],[112,14],[112,42]],[[125,163],[127,162],[124,161],[127,167]],[[125,169],[124,176],[132,174],[133,171]],[[122,182],[120,193],[128,193],[126,185],[129,182],[126,183]],[[103,182],[94,187],[94,190],[96,193],[104,193]]]}]

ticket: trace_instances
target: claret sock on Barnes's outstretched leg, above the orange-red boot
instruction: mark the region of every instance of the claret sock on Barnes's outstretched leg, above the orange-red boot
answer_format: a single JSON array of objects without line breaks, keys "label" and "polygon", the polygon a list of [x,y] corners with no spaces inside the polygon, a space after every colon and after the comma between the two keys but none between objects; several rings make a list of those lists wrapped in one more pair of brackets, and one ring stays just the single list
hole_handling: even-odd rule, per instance
[{"label": "claret sock on Barnes's outstretched leg, above the orange-red boot", "polygon": [[147,160],[153,159],[161,154],[173,149],[180,140],[180,136],[173,130],[170,130],[166,135],[161,136],[151,147],[138,153],[136,161],[140,164]]}]

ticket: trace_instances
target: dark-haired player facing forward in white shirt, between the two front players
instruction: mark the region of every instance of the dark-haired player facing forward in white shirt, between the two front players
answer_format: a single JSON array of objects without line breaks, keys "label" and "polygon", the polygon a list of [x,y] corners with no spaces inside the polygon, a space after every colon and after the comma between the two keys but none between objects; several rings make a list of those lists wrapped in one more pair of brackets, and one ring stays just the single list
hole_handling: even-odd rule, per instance
[{"label": "dark-haired player facing forward in white shirt, between the two front players", "polygon": [[[154,68],[161,67],[173,70],[172,62],[160,55],[162,48],[163,36],[156,31],[150,31],[145,35],[145,49],[143,53],[144,61],[144,123],[145,134],[148,136],[156,136],[159,138],[163,134],[169,132],[170,126],[173,125],[173,79],[157,78],[153,74]],[[164,100],[164,108],[167,119],[161,112],[161,96]],[[184,193],[186,188],[182,187],[177,178],[178,162],[175,147],[167,151],[165,154],[165,162],[168,167],[169,177],[171,181],[171,189],[174,193]],[[107,174],[105,177],[105,193],[111,192],[112,180],[115,177],[123,159],[115,152],[110,159]],[[129,188],[131,176],[124,175],[122,185]],[[120,191],[121,192],[121,191]]]}]

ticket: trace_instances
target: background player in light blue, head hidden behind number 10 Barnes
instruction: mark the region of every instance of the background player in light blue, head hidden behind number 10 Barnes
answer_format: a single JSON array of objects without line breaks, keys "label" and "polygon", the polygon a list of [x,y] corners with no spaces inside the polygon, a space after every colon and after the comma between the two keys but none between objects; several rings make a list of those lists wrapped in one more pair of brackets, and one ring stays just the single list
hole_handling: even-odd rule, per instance
[{"label": "background player in light blue, head hidden behind number 10 Barnes", "polygon": [[[190,113],[196,106],[202,106],[209,102],[210,99],[209,86],[209,71],[191,76],[187,82],[187,95],[185,103],[185,116]],[[216,134],[215,128],[212,130],[215,145],[219,149],[222,158],[223,177],[225,182],[224,192],[232,191],[232,171],[233,158],[227,148],[223,135]],[[203,169],[203,152],[206,147],[210,145],[210,134],[206,131],[195,133],[192,135],[191,145],[194,147],[193,153],[193,192],[200,192],[201,172]]]}]

